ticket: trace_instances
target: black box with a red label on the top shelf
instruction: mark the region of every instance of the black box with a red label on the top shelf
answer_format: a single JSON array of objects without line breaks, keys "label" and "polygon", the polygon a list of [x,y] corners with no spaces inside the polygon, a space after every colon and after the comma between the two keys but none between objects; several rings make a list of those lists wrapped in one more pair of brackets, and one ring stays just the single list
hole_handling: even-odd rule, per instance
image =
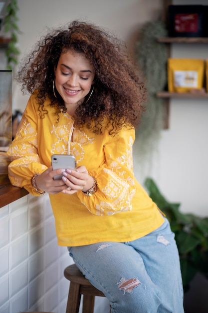
[{"label": "black box with a red label on the top shelf", "polygon": [[208,37],[208,5],[169,5],[171,37]]}]

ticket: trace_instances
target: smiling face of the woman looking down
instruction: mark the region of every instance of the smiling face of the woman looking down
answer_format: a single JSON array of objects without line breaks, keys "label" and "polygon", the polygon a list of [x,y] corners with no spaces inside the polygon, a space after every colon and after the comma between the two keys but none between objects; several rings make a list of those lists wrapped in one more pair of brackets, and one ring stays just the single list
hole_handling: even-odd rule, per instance
[{"label": "smiling face of the woman looking down", "polygon": [[71,115],[89,93],[95,71],[82,53],[67,50],[61,53],[55,71],[55,86]]}]

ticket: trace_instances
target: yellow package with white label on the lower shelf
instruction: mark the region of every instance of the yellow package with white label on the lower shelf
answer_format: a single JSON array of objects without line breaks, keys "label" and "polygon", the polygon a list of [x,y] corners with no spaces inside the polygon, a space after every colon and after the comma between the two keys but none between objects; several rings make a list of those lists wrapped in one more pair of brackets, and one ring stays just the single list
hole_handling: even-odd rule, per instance
[{"label": "yellow package with white label on the lower shelf", "polygon": [[168,59],[168,90],[190,92],[203,88],[205,60],[196,58]]}]

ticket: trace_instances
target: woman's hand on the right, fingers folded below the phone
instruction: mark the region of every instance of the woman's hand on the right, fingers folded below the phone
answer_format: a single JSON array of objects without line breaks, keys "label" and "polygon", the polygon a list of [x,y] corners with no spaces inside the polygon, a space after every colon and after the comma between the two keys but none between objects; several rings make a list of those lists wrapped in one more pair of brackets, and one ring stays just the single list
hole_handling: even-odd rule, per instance
[{"label": "woman's hand on the right, fingers folded below the phone", "polygon": [[67,194],[73,194],[78,190],[87,191],[94,183],[93,177],[88,174],[88,170],[83,165],[76,169],[66,169],[63,172],[62,180],[68,186],[62,192]]}]

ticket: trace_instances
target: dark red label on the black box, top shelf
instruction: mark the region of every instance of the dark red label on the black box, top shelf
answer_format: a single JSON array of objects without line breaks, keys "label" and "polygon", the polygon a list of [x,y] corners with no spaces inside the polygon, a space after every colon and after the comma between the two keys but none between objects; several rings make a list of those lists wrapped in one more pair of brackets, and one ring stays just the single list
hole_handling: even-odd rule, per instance
[{"label": "dark red label on the black box, top shelf", "polygon": [[176,14],[175,31],[177,32],[198,32],[199,14]]}]

